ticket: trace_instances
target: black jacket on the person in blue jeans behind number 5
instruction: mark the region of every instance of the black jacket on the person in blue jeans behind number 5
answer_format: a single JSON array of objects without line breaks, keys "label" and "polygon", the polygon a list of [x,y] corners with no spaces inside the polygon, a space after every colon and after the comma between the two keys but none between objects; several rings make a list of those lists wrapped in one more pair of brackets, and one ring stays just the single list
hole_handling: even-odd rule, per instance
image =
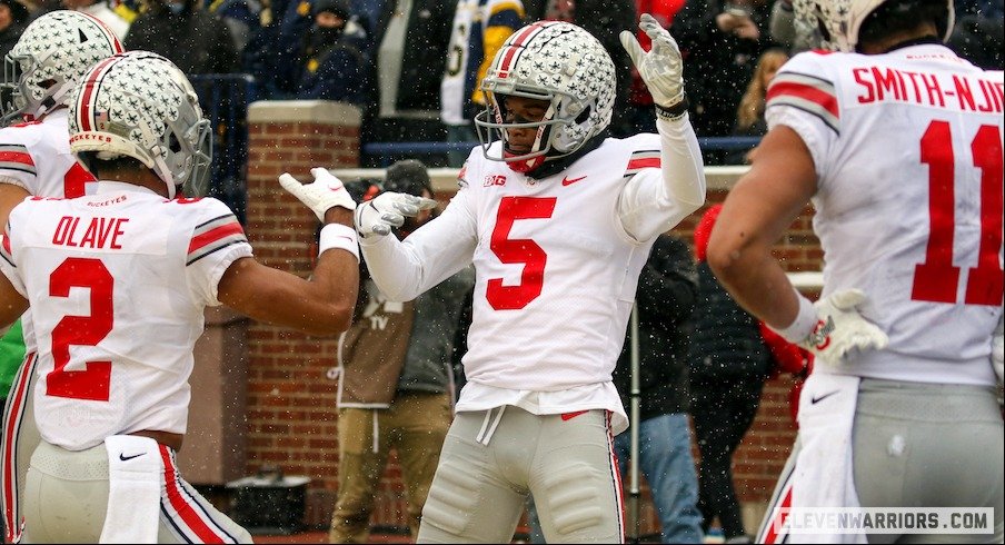
[{"label": "black jacket on the person in blue jeans behind number 5", "polygon": [[[640,418],[689,408],[687,347],[698,277],[687,244],[663,235],[653,245],[638,278]],[[631,326],[614,371],[614,383],[630,413]]]}]

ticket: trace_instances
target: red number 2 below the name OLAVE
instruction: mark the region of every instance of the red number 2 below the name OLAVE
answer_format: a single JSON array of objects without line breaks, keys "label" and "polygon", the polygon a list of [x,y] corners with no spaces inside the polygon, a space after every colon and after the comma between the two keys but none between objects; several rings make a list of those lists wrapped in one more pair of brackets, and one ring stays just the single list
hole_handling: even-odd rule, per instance
[{"label": "red number 2 below the name OLAVE", "polygon": [[66,370],[70,346],[94,346],[112,328],[111,274],[98,259],[69,258],[49,277],[49,295],[69,297],[70,288],[89,288],[91,315],[63,316],[52,329],[56,367],[46,376],[46,395],[107,402],[111,361],[88,361],[84,370]]}]

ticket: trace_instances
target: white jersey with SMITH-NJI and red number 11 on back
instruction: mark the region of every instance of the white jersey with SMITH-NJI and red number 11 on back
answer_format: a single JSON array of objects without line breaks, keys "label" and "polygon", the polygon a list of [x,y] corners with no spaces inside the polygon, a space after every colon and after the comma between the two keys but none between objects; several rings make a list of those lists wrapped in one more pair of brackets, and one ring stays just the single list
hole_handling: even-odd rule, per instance
[{"label": "white jersey with SMITH-NJI and red number 11 on back", "polygon": [[994,385],[1002,315],[1003,77],[939,44],[806,52],[768,90],[768,125],[816,165],[824,293],[859,288],[887,348],[863,377]]}]

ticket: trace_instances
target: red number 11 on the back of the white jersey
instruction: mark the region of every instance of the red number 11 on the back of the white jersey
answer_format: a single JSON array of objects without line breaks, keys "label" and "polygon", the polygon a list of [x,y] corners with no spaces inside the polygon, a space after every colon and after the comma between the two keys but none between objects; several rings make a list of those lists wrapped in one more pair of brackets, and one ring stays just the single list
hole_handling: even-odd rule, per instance
[{"label": "red number 11 on the back of the white jersey", "polygon": [[[967,305],[999,305],[1003,279],[1002,248],[1002,133],[984,125],[971,142],[974,166],[981,169],[981,247],[977,266],[967,272]],[[933,121],[922,137],[922,162],[928,165],[929,236],[925,262],[914,269],[913,300],[956,303],[959,267],[953,265],[955,230],[956,159],[949,123]]]}]

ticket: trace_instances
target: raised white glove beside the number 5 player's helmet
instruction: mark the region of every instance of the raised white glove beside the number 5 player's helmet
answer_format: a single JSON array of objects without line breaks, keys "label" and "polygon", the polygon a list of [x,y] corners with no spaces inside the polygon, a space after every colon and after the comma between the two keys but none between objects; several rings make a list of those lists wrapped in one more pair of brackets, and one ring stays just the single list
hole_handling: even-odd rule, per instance
[{"label": "raised white glove beside the number 5 player's helmet", "polygon": [[653,100],[663,108],[673,108],[684,100],[684,62],[680,60],[680,48],[667,29],[649,13],[643,13],[638,22],[646,36],[653,40],[653,48],[647,53],[635,39],[635,33],[621,31],[621,47],[628,51],[638,75],[649,88]]}]

